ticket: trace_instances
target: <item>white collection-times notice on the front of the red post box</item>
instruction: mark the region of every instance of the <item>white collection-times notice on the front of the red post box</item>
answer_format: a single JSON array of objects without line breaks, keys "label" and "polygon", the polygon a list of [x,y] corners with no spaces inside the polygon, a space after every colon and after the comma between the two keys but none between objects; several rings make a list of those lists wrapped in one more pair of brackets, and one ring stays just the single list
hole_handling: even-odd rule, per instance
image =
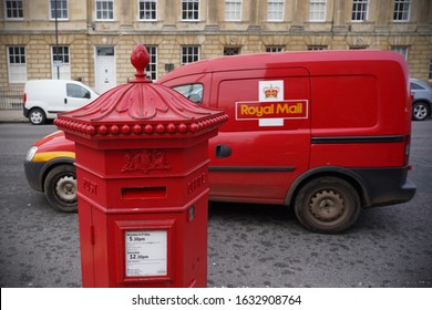
[{"label": "white collection-times notice on the front of the red post box", "polygon": [[167,231],[126,231],[126,277],[167,275]]}]

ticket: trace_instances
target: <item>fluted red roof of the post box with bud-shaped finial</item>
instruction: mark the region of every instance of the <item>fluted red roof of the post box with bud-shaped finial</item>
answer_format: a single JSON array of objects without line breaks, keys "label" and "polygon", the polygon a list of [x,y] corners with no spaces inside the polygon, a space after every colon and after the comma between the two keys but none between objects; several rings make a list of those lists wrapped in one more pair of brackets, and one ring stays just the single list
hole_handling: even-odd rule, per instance
[{"label": "fluted red roof of the post box with bud-shaped finial", "polygon": [[199,106],[178,92],[146,79],[150,55],[137,44],[131,54],[135,80],[106,91],[90,104],[60,114],[62,131],[93,138],[196,135],[227,121],[223,111]]}]

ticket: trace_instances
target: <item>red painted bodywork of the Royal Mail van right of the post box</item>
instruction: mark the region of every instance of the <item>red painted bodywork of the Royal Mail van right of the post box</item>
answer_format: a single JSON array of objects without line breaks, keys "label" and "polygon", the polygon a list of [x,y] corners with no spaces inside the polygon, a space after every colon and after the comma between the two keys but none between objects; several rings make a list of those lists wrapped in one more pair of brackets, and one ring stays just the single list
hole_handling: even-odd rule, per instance
[{"label": "red painted bodywork of the Royal Mail van right of the post box", "polygon": [[[239,118],[236,103],[256,102],[259,81],[282,81],[284,100],[305,101],[307,117],[285,118],[281,126],[260,126],[259,117]],[[202,83],[202,104],[224,108],[229,115],[219,135],[210,141],[214,200],[289,204],[290,189],[294,193],[296,180],[300,183],[300,176],[308,172],[408,164],[408,68],[393,52],[222,58],[184,65],[158,82],[173,87]],[[228,146],[232,154],[218,158],[218,146]],[[366,194],[363,203],[385,202]]]}]

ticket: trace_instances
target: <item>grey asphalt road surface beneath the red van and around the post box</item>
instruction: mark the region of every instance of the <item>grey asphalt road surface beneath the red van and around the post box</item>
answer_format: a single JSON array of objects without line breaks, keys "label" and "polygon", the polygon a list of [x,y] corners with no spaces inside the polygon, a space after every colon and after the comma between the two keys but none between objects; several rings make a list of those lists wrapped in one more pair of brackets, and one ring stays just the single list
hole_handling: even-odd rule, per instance
[{"label": "grey asphalt road surface beneath the red van and around the post box", "polygon": [[[0,124],[0,287],[81,287],[76,214],[53,210],[23,158],[53,125]],[[279,206],[209,206],[209,287],[432,287],[432,120],[413,123],[413,200],[364,210],[341,235]]]}]

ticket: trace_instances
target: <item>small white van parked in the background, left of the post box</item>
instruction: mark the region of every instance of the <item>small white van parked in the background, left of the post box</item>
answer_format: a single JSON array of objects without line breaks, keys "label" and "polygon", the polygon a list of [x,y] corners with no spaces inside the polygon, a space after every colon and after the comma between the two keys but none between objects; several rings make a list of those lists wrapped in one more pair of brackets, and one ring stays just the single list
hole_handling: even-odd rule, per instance
[{"label": "small white van parked in the background, left of the post box", "polygon": [[89,86],[70,80],[25,82],[23,114],[33,125],[53,120],[58,113],[81,107],[99,95]]}]

